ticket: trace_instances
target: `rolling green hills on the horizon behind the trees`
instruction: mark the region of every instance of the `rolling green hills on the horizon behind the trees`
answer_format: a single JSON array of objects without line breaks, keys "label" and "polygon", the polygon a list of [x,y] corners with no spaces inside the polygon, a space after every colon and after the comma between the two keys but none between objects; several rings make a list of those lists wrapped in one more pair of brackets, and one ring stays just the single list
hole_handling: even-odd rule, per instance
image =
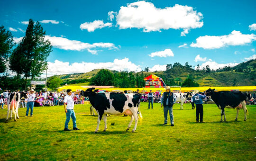
[{"label": "rolling green hills on the horizon behind the trees", "polygon": [[[91,77],[97,74],[101,69],[95,69],[91,72],[77,73],[77,74],[65,74],[59,75],[59,77],[64,80],[79,80],[85,79],[85,82],[80,82],[77,85],[89,85],[88,81]],[[178,65],[174,68],[168,69],[166,71],[156,71],[156,72],[138,72],[140,75],[143,73],[145,77],[150,74],[155,74],[156,76],[163,77],[165,80],[173,79],[175,81],[183,82],[188,75],[192,75],[193,79],[197,81],[200,87],[205,86],[255,86],[256,85],[256,60],[250,60],[244,63],[240,63],[237,66],[225,71],[226,69],[217,71],[197,71],[192,68]],[[117,71],[112,71],[117,72]],[[136,74],[136,73],[134,73]],[[69,85],[72,85],[69,83]]]}]

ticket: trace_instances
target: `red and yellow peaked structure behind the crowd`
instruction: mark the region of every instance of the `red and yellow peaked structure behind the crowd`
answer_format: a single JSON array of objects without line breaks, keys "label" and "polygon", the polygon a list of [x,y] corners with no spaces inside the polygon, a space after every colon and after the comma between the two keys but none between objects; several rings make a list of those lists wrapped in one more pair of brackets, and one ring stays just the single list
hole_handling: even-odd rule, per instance
[{"label": "red and yellow peaked structure behind the crowd", "polygon": [[144,78],[144,80],[146,81],[145,88],[161,88],[166,86],[164,80],[154,74]]}]

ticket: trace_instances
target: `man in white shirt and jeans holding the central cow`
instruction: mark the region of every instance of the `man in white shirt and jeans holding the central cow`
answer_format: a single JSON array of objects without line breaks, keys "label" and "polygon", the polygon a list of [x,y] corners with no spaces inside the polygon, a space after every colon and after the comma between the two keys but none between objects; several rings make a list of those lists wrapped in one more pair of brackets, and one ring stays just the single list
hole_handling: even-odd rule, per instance
[{"label": "man in white shirt and jeans holding the central cow", "polygon": [[80,93],[80,91],[75,92],[72,94],[71,89],[67,89],[67,95],[64,98],[64,110],[66,113],[66,121],[65,121],[65,128],[64,131],[71,131],[68,128],[68,123],[70,121],[70,117],[72,118],[73,121],[73,130],[79,130],[79,128],[76,127],[76,117],[74,113],[74,97],[76,94]]}]

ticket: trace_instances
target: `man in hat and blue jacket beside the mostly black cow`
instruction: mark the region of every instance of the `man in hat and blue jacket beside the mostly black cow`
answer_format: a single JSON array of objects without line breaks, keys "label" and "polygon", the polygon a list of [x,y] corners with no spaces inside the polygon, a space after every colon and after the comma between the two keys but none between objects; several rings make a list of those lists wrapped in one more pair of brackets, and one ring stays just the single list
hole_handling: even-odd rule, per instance
[{"label": "man in hat and blue jacket beside the mostly black cow", "polygon": [[206,97],[206,95],[204,93],[202,93],[201,95],[198,94],[199,90],[195,89],[193,91],[193,102],[194,104],[196,104],[196,122],[199,123],[199,114],[200,114],[200,122],[203,122],[203,106],[202,106],[202,100]]}]

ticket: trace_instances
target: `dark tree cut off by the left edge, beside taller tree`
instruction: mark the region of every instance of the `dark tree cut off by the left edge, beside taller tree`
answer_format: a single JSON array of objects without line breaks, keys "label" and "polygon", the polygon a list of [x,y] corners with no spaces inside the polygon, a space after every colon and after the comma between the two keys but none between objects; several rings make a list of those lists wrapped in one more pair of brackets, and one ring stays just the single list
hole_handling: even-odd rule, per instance
[{"label": "dark tree cut off by the left edge, beside taller tree", "polygon": [[13,47],[13,36],[9,31],[0,27],[0,73],[5,72],[11,49]]}]

